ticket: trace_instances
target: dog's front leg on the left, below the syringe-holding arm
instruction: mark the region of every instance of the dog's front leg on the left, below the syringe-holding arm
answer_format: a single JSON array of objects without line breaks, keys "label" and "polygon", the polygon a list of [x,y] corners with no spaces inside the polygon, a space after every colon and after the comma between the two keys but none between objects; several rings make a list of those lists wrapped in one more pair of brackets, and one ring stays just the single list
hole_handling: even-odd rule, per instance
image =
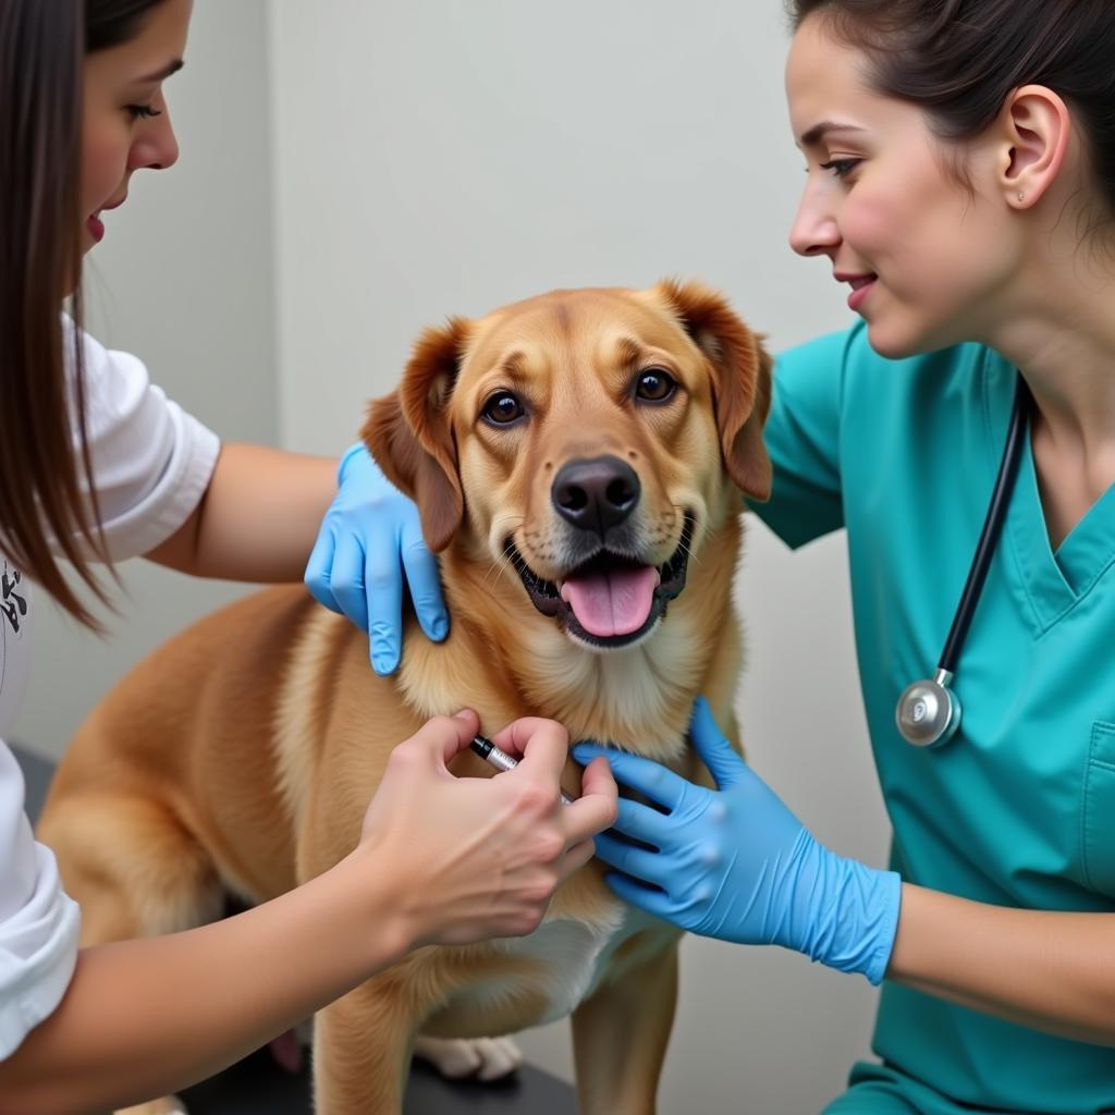
[{"label": "dog's front leg on the left, below the syringe-holding arm", "polygon": [[374,978],[318,1011],[316,1115],[399,1115],[416,1020],[398,980]]}]

